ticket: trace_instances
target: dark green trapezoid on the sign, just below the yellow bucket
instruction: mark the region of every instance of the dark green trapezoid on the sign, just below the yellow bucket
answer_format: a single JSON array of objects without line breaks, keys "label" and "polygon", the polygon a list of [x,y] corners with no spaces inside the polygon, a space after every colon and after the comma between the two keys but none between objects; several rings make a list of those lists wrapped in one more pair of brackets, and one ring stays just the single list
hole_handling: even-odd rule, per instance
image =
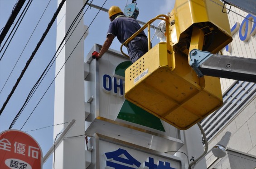
[{"label": "dark green trapezoid on the sign, just below the yellow bucket", "polygon": [[124,101],[117,118],[165,132],[164,126],[158,117],[141,109],[128,100]]}]

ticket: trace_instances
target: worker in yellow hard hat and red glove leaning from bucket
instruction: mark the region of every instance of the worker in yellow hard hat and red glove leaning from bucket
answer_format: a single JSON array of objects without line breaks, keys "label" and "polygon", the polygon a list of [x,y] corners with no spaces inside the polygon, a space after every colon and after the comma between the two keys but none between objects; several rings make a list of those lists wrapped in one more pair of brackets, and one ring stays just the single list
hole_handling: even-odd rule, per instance
[{"label": "worker in yellow hard hat and red glove leaning from bucket", "polygon": [[[124,43],[141,28],[136,19],[126,17],[118,6],[111,6],[108,10],[108,15],[111,23],[106,35],[106,41],[99,53],[96,51],[92,53],[93,59],[100,59],[109,49],[115,37],[117,37],[121,43]],[[152,44],[150,45],[152,46]],[[142,31],[138,36],[131,40],[126,47],[130,56],[130,61],[134,63],[148,51],[148,38]]]}]

